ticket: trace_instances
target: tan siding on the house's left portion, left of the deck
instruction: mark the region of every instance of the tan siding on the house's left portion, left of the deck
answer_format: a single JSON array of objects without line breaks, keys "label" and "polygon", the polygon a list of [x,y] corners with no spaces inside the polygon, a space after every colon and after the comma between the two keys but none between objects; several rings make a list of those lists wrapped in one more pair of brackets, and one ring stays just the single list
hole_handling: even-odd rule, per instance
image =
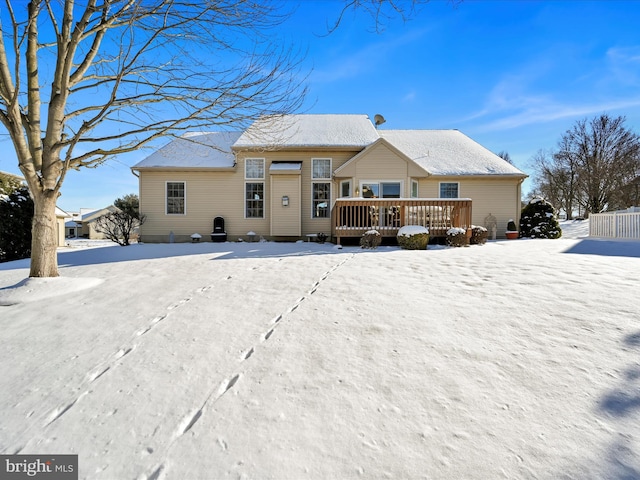
[{"label": "tan siding on the house's left portion, left of the deck", "polygon": [[[269,167],[273,161],[302,161],[300,179],[300,212],[304,236],[307,233],[331,231],[331,218],[311,218],[311,159],[331,158],[332,169],[343,165],[357,151],[314,150],[306,152],[241,152],[238,154],[234,171],[189,171],[182,170],[140,170],[140,211],[147,216],[141,227],[143,241],[168,242],[170,232],[174,240],[190,241],[190,235],[199,233],[209,240],[213,230],[213,219],[225,219],[225,229],[229,240],[247,238],[247,232],[258,236],[271,236],[271,175]],[[245,180],[244,159],[265,158],[264,180]],[[264,181],[264,218],[245,218],[245,182]],[[166,182],[186,183],[185,215],[167,215]],[[337,184],[332,182],[331,200],[337,195]]]}]

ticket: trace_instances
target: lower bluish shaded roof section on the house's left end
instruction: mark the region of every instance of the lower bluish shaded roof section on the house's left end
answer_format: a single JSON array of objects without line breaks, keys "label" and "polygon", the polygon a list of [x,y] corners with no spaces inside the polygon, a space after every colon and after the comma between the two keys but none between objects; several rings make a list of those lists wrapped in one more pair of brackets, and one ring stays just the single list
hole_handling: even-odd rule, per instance
[{"label": "lower bluish shaded roof section on the house's left end", "polygon": [[240,133],[186,133],[131,168],[233,168],[231,146]]}]

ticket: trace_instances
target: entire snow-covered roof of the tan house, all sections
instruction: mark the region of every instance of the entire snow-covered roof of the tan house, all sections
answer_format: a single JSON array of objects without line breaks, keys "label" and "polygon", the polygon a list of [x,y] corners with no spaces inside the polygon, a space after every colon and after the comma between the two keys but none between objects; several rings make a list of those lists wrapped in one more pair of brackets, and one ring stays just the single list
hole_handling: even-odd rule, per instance
[{"label": "entire snow-covered roof of the tan house, all sections", "polygon": [[186,133],[131,168],[231,169],[243,149],[348,149],[361,158],[381,141],[431,175],[527,177],[458,130],[376,130],[367,115],[351,114],[267,116],[244,132]]}]

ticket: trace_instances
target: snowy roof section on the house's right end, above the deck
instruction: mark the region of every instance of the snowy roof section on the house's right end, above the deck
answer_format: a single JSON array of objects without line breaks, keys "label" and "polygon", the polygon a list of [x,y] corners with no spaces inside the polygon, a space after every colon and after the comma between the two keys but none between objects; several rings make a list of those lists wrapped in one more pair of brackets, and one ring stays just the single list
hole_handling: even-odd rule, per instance
[{"label": "snowy roof section on the house's right end, above the deck", "polygon": [[458,130],[379,130],[379,133],[432,175],[527,176]]}]

